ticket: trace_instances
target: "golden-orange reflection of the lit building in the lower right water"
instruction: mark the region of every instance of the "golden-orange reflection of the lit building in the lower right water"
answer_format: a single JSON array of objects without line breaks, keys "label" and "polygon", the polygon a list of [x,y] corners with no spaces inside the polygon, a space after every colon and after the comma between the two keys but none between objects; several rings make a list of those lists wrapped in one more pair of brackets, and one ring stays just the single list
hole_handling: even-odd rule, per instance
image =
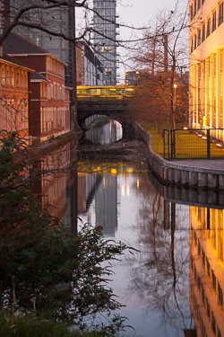
[{"label": "golden-orange reflection of the lit building in the lower right water", "polygon": [[190,305],[197,336],[224,336],[224,210],[191,207]]}]

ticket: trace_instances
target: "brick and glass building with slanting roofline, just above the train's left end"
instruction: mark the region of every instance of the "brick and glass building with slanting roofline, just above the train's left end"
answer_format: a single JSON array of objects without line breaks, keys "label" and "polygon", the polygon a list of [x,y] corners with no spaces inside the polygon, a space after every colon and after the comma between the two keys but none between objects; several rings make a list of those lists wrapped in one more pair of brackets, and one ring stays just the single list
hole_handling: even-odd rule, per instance
[{"label": "brick and glass building with slanting roofline, just above the train's left end", "polygon": [[77,85],[103,84],[103,65],[84,41],[76,43],[76,74]]}]

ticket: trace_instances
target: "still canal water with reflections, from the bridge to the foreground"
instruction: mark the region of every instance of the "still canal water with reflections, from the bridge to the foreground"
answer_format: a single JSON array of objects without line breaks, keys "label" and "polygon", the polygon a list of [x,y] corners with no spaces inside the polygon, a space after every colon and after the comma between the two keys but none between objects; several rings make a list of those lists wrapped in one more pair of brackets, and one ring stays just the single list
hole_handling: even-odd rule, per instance
[{"label": "still canal water with reflections, from the bridge to the foreground", "polygon": [[[140,148],[123,161],[81,146],[78,173],[47,177],[43,203],[65,226],[101,225],[105,239],[138,250],[113,262],[110,286],[134,328],[122,336],[224,337],[224,211],[164,197]],[[52,155],[43,167],[71,165],[71,145]]]}]

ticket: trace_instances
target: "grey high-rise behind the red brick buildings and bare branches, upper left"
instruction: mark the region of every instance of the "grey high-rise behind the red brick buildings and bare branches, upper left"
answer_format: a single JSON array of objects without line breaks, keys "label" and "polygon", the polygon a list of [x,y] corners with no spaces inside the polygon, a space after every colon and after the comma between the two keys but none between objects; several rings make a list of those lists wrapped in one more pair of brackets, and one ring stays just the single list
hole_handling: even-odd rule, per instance
[{"label": "grey high-rise behind the red brick buildings and bare branches, upper left", "polygon": [[[22,8],[30,6],[31,4],[39,5],[38,0],[7,0],[10,3],[10,21],[21,11]],[[47,2],[46,2],[47,3]],[[13,31],[18,35],[22,35],[25,39],[34,42],[43,49],[47,49],[56,58],[61,59],[68,64],[65,69],[65,83],[73,86],[73,43],[71,44],[64,37],[74,37],[74,10],[73,6],[58,6],[49,9],[34,8],[24,14],[20,19],[22,22],[37,24],[43,27],[45,31],[30,28],[25,25],[17,25]],[[58,34],[52,35],[49,32]]]}]

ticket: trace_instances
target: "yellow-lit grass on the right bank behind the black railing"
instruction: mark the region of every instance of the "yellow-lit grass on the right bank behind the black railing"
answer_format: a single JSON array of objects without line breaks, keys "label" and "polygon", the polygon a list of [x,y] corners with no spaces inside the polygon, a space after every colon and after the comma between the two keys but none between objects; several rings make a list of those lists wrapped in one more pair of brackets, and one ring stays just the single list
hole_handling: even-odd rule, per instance
[{"label": "yellow-lit grass on the right bank behind the black railing", "polygon": [[[155,152],[163,156],[163,137],[153,124],[142,125],[152,137],[152,146]],[[188,130],[176,132],[176,158],[177,159],[206,159],[207,158],[207,140],[198,137]],[[211,158],[224,158],[224,149],[211,142]],[[166,146],[168,154],[168,146]]]}]

